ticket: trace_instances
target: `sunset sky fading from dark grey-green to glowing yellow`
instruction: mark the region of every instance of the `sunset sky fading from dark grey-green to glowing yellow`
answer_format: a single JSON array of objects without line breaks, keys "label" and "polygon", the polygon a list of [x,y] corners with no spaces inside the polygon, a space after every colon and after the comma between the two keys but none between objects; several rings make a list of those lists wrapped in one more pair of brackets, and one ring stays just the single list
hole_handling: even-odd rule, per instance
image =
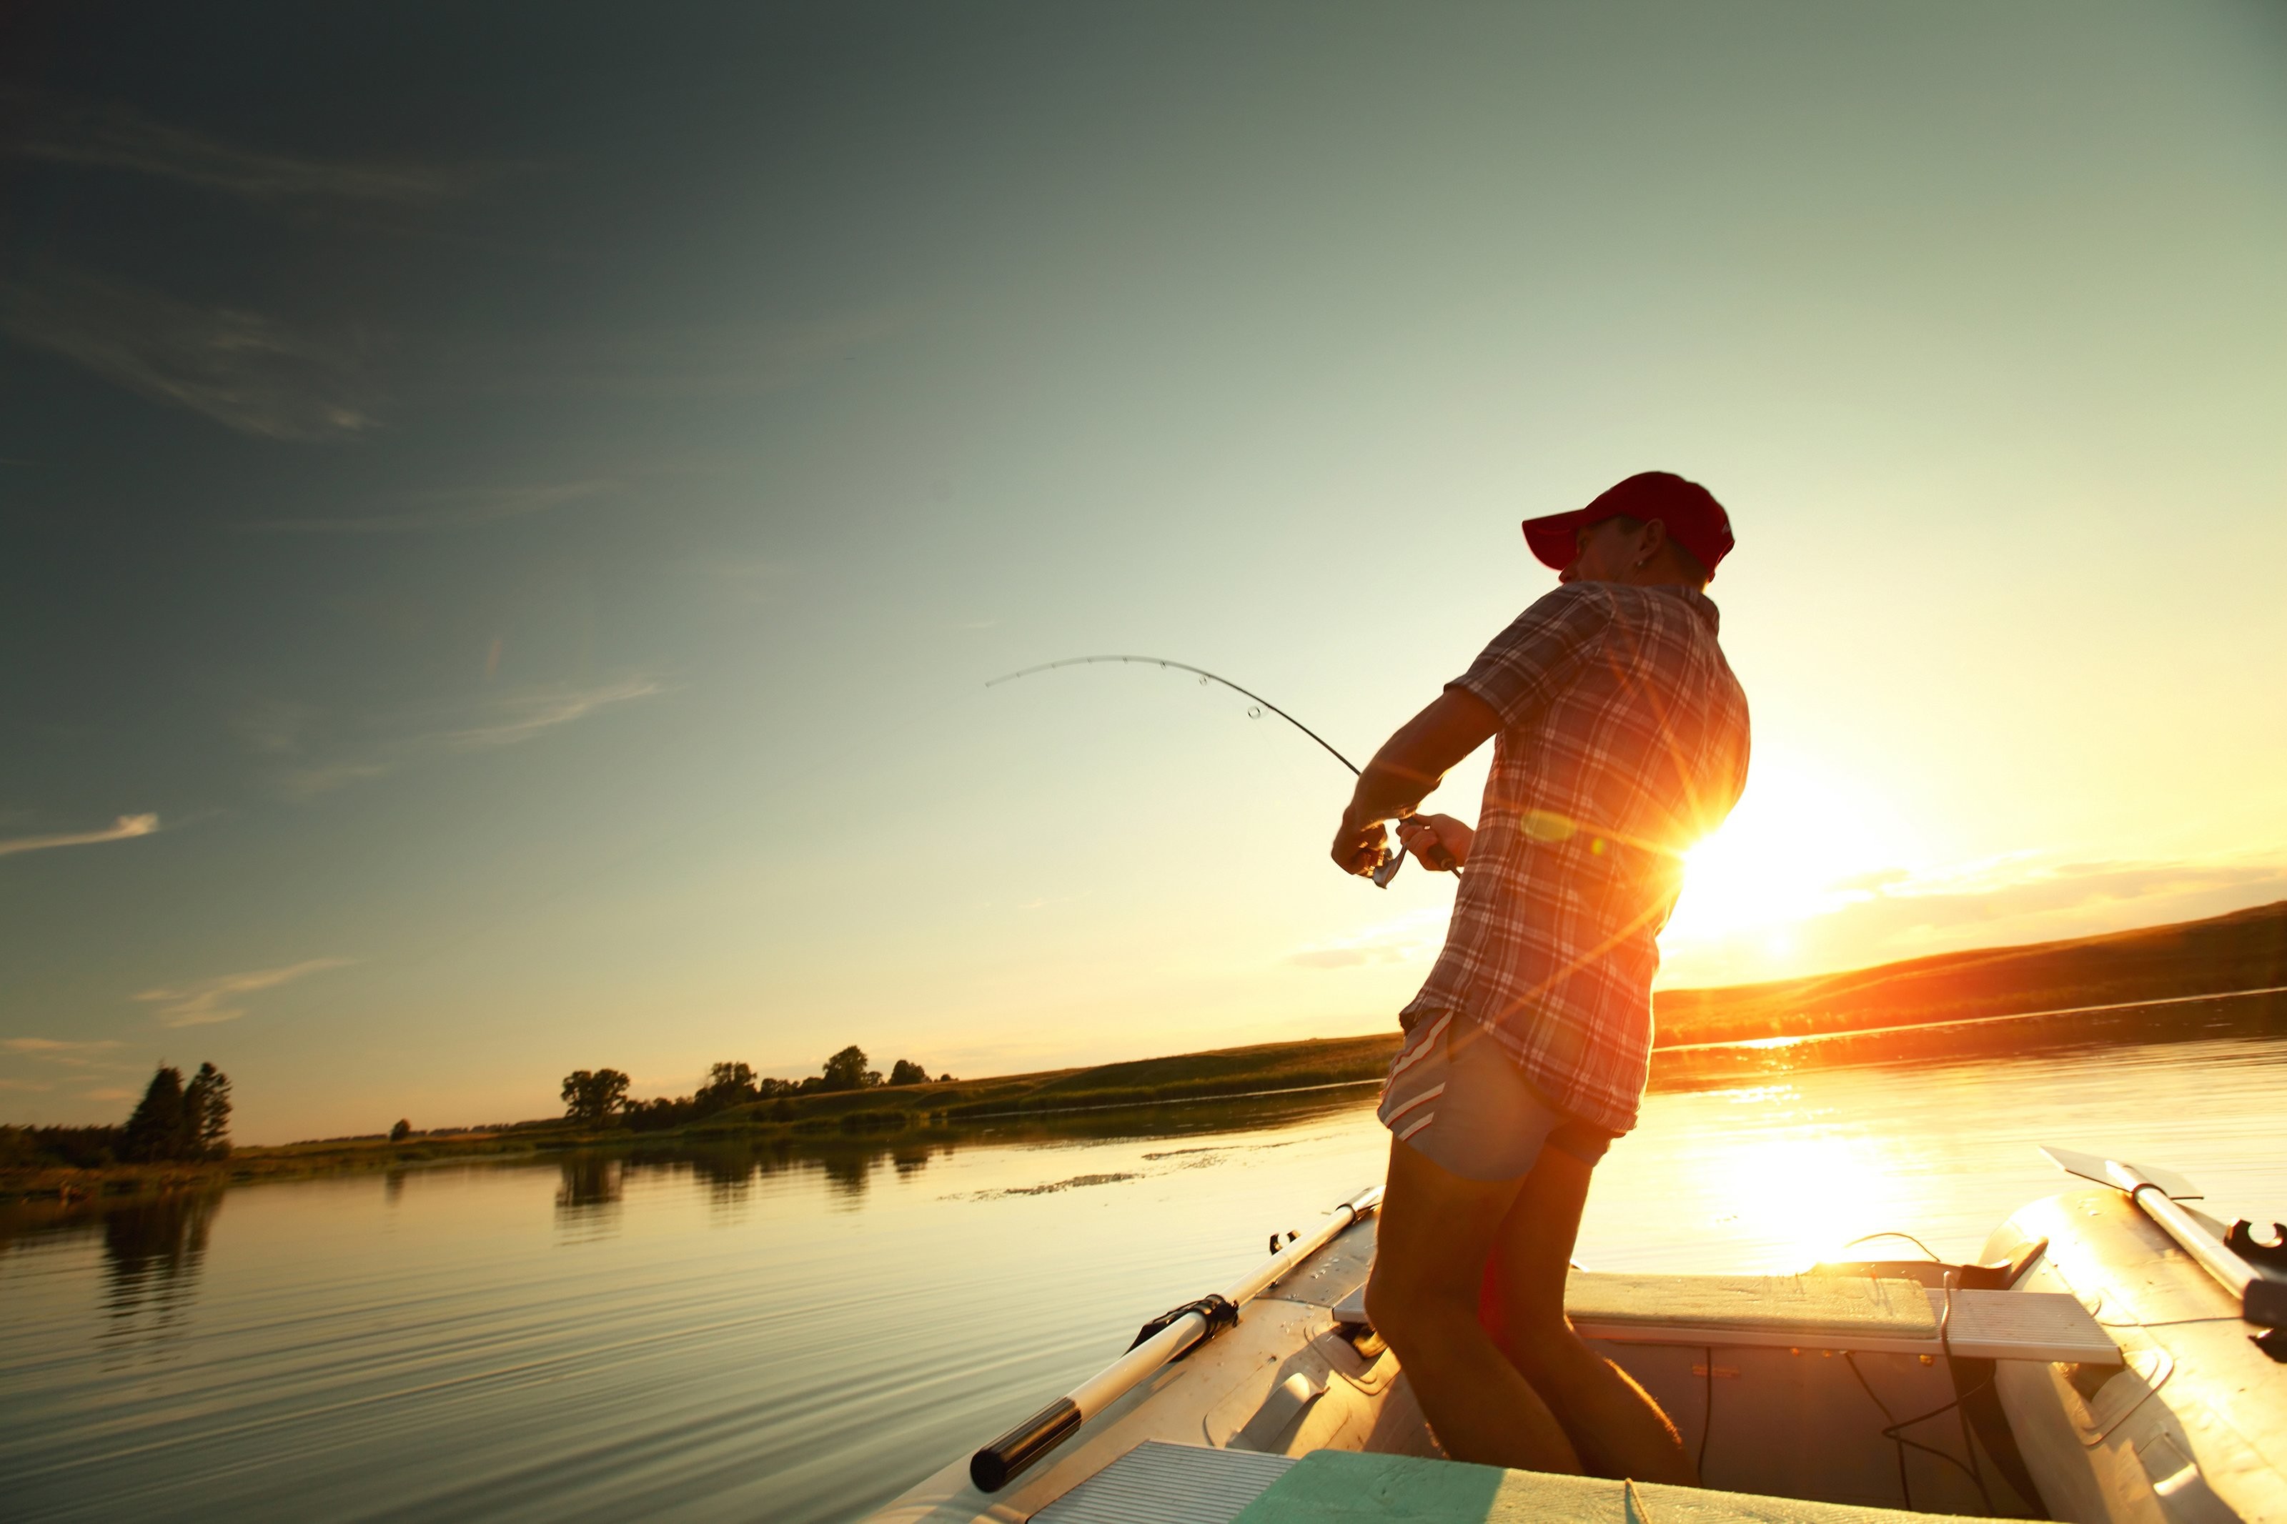
[{"label": "sunset sky fading from dark grey-green to glowing yellow", "polygon": [[1756,738],[1665,985],[2287,898],[2276,5],[0,27],[0,1120],[1390,1028],[1329,756],[986,681],[1363,759],[1644,468]]}]

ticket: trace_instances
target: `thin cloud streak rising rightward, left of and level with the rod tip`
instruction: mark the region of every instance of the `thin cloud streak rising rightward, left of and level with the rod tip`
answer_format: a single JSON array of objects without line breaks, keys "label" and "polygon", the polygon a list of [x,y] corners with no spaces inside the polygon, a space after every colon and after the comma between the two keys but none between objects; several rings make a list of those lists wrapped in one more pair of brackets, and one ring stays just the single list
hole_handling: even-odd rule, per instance
[{"label": "thin cloud streak rising rightward, left of and level with the rod tip", "polygon": [[290,763],[279,781],[290,797],[309,800],[444,756],[524,745],[615,704],[666,690],[652,676],[590,685],[542,683],[350,724],[304,704],[265,704],[247,711],[238,731],[252,752]]}]

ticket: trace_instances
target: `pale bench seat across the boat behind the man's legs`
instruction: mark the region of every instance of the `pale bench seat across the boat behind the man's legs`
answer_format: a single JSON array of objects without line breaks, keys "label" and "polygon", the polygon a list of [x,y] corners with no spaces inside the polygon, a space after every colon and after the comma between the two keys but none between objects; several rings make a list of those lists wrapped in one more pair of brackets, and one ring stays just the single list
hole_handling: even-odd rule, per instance
[{"label": "pale bench seat across the boat behind the man's legs", "polygon": [[[2074,1298],[2056,1291],[1953,1291],[1857,1275],[1599,1275],[1573,1270],[1564,1312],[1583,1339],[1820,1348],[1868,1355],[2063,1359],[2120,1364],[2120,1348]],[[1365,1325],[1365,1291],[1333,1307]]]}]

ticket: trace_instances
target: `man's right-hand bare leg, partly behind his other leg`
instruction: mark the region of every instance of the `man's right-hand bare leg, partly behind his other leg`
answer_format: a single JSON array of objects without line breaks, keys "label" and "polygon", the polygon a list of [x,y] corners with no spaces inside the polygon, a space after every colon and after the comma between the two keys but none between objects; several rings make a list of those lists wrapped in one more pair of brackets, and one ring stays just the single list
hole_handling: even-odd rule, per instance
[{"label": "man's right-hand bare leg, partly behind his other leg", "polygon": [[[1564,1318],[1564,1275],[1592,1172],[1562,1149],[1541,1149],[1500,1220],[1505,1350],[1548,1398],[1589,1471],[1697,1487],[1699,1469],[1660,1405],[1583,1343]],[[1404,1359],[1404,1350],[1397,1357]]]}]

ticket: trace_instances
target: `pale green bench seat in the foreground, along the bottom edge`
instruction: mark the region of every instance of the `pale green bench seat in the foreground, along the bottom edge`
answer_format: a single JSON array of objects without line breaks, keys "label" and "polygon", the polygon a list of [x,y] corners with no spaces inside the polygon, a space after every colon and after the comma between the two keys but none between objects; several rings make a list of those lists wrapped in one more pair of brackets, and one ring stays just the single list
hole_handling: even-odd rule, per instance
[{"label": "pale green bench seat in the foreground, along the bottom edge", "polygon": [[[1036,1517],[1047,1517],[1036,1515]],[[1310,1451],[1235,1524],[1910,1524],[1962,1515],[1809,1503],[1660,1483],[1503,1471],[1457,1460]]]}]

